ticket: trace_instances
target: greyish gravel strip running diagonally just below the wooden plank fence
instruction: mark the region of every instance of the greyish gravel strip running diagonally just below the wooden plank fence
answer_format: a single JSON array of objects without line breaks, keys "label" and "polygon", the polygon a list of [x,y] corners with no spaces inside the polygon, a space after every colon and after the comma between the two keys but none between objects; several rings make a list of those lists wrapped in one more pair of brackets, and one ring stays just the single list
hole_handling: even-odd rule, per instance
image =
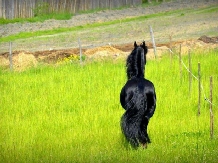
[{"label": "greyish gravel strip running diagonally just below the wooden plank fence", "polygon": [[0,37],[20,32],[49,30],[59,27],[73,27],[94,22],[105,22],[178,9],[202,8],[211,5],[218,5],[218,0],[175,0],[173,2],[162,3],[158,6],[131,7],[123,10],[104,10],[96,13],[75,15],[70,20],[47,20],[45,22],[36,23],[6,24],[0,26]]}]

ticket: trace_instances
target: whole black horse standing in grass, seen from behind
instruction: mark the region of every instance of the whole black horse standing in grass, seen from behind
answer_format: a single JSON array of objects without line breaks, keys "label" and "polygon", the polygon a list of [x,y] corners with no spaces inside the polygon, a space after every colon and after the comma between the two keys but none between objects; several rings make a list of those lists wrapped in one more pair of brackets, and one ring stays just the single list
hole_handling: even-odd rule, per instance
[{"label": "whole black horse standing in grass, seen from behind", "polygon": [[149,119],[156,108],[155,88],[144,78],[147,46],[134,43],[134,49],[126,61],[128,81],[120,92],[120,103],[126,110],[121,117],[121,130],[133,148],[144,148],[150,139],[147,133]]}]

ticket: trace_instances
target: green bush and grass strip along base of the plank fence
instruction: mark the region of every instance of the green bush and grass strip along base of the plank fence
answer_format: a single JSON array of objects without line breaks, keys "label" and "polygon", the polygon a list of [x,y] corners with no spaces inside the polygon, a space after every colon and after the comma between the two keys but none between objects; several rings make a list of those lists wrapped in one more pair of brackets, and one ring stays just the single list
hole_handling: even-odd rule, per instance
[{"label": "green bush and grass strip along base of the plank fence", "polygon": [[[69,1],[70,2],[70,1]],[[162,1],[161,1],[162,2]],[[142,5],[142,6],[153,6],[153,5],[158,5],[161,3],[160,1],[157,2],[157,1],[151,1],[151,2],[147,2],[147,1],[142,1],[142,3],[140,2],[136,2],[137,5]],[[55,3],[55,2],[53,2]],[[54,9],[51,9],[52,7],[51,6],[59,6],[58,4],[49,4],[47,2],[38,2],[35,4],[35,6],[33,6],[31,8],[31,13],[32,16],[30,17],[25,17],[25,16],[15,16],[13,18],[5,18],[5,17],[0,17],[0,25],[1,24],[8,24],[8,23],[16,23],[16,22],[43,22],[45,20],[49,20],[49,19],[56,19],[56,20],[69,20],[73,17],[73,15],[75,13],[73,12],[70,12],[69,10],[64,10],[62,9],[61,10],[61,7],[58,9],[60,11],[55,11]],[[63,4],[61,1],[60,1],[61,4]],[[74,4],[74,2],[72,2]],[[79,2],[80,3],[80,2]],[[79,4],[78,3],[78,4]],[[97,3],[94,2],[94,3]],[[129,4],[121,4],[121,5],[118,5],[119,7],[113,7],[113,8],[110,8],[110,7],[94,7],[92,9],[83,9],[83,10],[80,10],[78,11],[76,14],[85,14],[85,13],[94,13],[94,12],[97,12],[97,11],[102,11],[102,10],[107,10],[107,9],[112,9],[112,10],[117,10],[117,9],[123,9],[123,8],[127,8],[131,5],[132,2],[129,2]],[[11,7],[11,4],[9,4],[10,7]],[[66,4],[66,6],[69,5],[69,4]],[[85,5],[85,3],[84,3]],[[17,6],[21,6],[22,5],[17,5]],[[25,6],[25,5],[23,5]],[[87,6],[87,5],[85,5]],[[28,10],[28,9],[26,9]],[[1,12],[1,10],[0,10]],[[20,13],[17,13],[17,14],[20,14]],[[4,15],[4,14],[2,14]]]}]

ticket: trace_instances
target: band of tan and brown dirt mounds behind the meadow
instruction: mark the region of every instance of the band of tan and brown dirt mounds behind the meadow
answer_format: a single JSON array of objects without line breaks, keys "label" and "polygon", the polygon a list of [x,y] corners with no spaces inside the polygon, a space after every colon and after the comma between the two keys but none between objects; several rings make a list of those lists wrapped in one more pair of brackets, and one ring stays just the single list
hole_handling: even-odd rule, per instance
[{"label": "band of tan and brown dirt mounds behind the meadow", "polygon": [[[154,58],[152,45],[147,44],[149,51],[147,54],[148,59]],[[188,50],[209,50],[218,49],[218,37],[202,36],[197,40],[185,40],[172,42],[171,47],[178,51],[182,47],[182,54],[188,54]],[[163,54],[169,52],[170,44],[158,44],[157,55],[159,58]],[[102,59],[125,59],[127,55],[133,49],[133,43],[119,44],[114,46],[102,46],[92,49],[82,49],[82,54],[86,57],[86,60],[102,60]],[[14,51],[13,52],[13,64],[14,69],[22,71],[28,67],[36,66],[37,63],[55,64],[64,58],[68,58],[71,55],[80,55],[78,48],[61,49],[61,50],[46,50],[46,51]],[[0,66],[9,68],[9,53],[0,54]]]}]

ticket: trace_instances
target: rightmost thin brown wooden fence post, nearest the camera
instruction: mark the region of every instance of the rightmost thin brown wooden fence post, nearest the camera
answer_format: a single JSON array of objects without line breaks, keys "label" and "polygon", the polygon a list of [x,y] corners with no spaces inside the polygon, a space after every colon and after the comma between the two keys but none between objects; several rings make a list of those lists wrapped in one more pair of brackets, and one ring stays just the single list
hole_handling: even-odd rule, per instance
[{"label": "rightmost thin brown wooden fence post, nearest the camera", "polygon": [[214,119],[213,119],[213,78],[210,77],[210,138],[213,138],[213,126],[214,126]]}]

